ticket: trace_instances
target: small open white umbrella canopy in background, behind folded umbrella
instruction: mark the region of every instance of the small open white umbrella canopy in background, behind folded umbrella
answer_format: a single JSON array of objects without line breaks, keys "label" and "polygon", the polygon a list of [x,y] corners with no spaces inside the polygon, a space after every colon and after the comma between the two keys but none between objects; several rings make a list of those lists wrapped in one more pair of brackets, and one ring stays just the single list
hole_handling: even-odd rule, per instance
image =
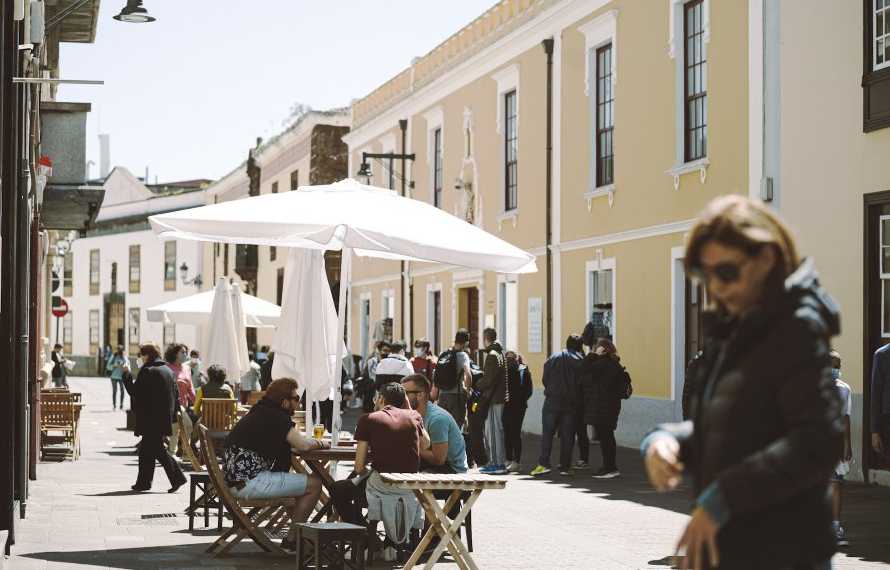
[{"label": "small open white umbrella canopy in background, behind folded umbrella", "polygon": [[[215,290],[204,291],[148,309],[149,321],[179,325],[206,325],[210,322],[210,309],[213,306]],[[281,307],[259,297],[241,293],[244,309],[244,326],[274,327],[281,318]]]}]

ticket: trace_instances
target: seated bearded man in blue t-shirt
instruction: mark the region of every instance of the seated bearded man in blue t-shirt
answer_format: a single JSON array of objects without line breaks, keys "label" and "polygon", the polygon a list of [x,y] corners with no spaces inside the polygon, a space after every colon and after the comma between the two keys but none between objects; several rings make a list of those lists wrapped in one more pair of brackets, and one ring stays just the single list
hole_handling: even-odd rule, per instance
[{"label": "seated bearded man in blue t-shirt", "polygon": [[430,381],[423,374],[402,378],[411,408],[423,417],[423,427],[431,446],[420,452],[420,471],[425,473],[466,473],[467,451],[457,422],[430,398]]}]

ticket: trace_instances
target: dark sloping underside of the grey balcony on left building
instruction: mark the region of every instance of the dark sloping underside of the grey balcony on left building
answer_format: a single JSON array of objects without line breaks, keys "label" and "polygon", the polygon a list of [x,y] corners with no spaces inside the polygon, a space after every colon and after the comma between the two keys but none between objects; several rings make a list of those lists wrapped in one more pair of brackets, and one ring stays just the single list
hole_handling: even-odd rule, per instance
[{"label": "dark sloping underside of the grey balcony on left building", "polygon": [[47,230],[83,230],[96,224],[105,199],[101,186],[48,184],[43,191],[40,225]]}]

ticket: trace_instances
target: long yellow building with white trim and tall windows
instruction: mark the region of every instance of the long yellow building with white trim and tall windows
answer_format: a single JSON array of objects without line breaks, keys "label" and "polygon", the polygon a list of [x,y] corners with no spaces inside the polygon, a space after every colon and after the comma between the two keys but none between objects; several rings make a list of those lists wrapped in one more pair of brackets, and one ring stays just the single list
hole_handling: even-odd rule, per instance
[{"label": "long yellow building with white trim and tall windows", "polygon": [[372,183],[400,190],[404,175],[411,197],[535,254],[539,272],[356,258],[352,351],[368,353],[385,317],[436,351],[459,327],[481,348],[494,326],[530,366],[525,429],[539,432],[543,362],[593,318],[634,379],[619,442],[678,418],[701,305],[684,235],[708,200],[749,188],[748,10],[505,0],[355,102],[350,173],[363,152],[414,153],[395,174],[372,161]]}]

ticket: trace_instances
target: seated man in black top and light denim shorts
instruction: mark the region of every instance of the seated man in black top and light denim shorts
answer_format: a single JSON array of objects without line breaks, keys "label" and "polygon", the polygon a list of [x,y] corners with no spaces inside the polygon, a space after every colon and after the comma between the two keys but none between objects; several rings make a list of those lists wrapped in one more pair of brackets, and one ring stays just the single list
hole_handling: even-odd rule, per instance
[{"label": "seated man in black top and light denim shorts", "polygon": [[[212,367],[211,367],[212,368]],[[321,479],[290,473],[291,448],[300,451],[329,448],[330,444],[304,437],[291,416],[299,408],[297,381],[279,378],[250,408],[226,438],[222,472],[236,499],[294,497],[293,522],[306,522],[321,494]],[[281,540],[285,550],[296,548],[294,526]]]}]

